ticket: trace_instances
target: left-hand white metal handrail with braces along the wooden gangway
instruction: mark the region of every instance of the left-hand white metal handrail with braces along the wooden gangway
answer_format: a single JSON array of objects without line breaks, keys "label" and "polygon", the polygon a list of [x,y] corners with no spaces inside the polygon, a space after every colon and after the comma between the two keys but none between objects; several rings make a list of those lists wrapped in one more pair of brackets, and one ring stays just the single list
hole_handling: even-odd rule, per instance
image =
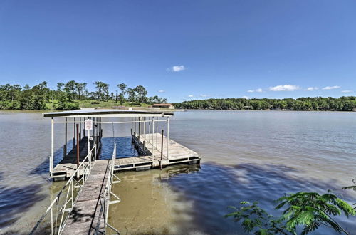
[{"label": "left-hand white metal handrail with braces along the wooden gangway", "polygon": [[[34,234],[36,229],[38,229],[38,226],[41,224],[41,222],[46,218],[48,212],[51,212],[51,234],[61,234],[64,225],[66,224],[66,221],[70,215],[70,212],[72,211],[75,202],[78,199],[78,196],[83,189],[83,185],[85,184],[86,180],[88,179],[87,175],[90,174],[91,169],[93,168],[92,162],[95,163],[95,160],[93,160],[93,150],[97,151],[97,145],[94,145],[93,148],[88,152],[88,155],[84,158],[83,162],[79,164],[75,172],[73,173],[72,177],[68,179],[68,182],[63,186],[60,192],[58,192],[57,196],[51,204],[49,205],[48,209],[46,209],[45,213],[41,216],[41,218],[37,221],[36,225],[33,227],[33,229],[30,232],[31,234]],[[85,164],[87,162],[87,164]],[[80,169],[83,168],[83,177],[80,179],[75,180],[75,177],[79,178],[79,171]],[[81,182],[81,183],[80,183]],[[65,192],[65,189],[67,189],[66,193],[66,199],[61,207],[59,207],[60,204],[60,199],[61,195],[63,192]],[[76,188],[79,188],[78,193],[74,197],[74,190]],[[69,203],[71,204],[69,205]],[[56,213],[53,218],[53,207],[56,205]],[[66,214],[66,212],[68,212]],[[66,215],[65,215],[66,214]],[[59,220],[59,221],[58,221]],[[59,223],[58,223],[59,222]]]}]

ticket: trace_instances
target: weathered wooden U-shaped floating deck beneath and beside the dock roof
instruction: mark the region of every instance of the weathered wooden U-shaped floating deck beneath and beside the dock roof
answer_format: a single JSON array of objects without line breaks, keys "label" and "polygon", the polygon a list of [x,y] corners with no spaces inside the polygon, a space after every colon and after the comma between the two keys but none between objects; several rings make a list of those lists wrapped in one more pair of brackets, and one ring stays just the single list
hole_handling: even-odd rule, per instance
[{"label": "weathered wooden U-shaped floating deck beneath and beside the dock roof", "polygon": [[[159,168],[161,164],[162,135],[159,133],[145,135],[132,135],[132,142],[140,152],[137,157],[119,157],[115,160],[115,172],[126,169],[144,170]],[[90,142],[93,145],[93,141]],[[167,145],[169,152],[167,157]],[[100,146],[100,145],[98,145]],[[100,148],[100,147],[98,147]],[[68,179],[77,169],[76,147],[71,150],[66,157],[53,169],[53,179]],[[88,155],[88,139],[83,137],[80,140],[80,162]],[[96,160],[97,162],[106,160]],[[163,136],[162,167],[171,164],[199,164],[200,156],[197,152]]]}]

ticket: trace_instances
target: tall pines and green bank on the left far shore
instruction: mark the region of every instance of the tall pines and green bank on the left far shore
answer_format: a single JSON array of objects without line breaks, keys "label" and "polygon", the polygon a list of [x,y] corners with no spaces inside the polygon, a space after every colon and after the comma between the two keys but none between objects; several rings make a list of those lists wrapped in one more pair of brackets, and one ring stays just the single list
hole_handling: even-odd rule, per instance
[{"label": "tall pines and green bank on the left far shore", "polygon": [[95,90],[89,91],[87,83],[70,80],[67,83],[57,83],[57,88],[51,90],[46,81],[30,87],[19,84],[0,85],[0,109],[10,110],[74,110],[80,108],[81,100],[115,101],[123,105],[131,103],[165,103],[166,98],[157,95],[147,97],[147,90],[142,85],[128,88],[125,83],[115,85],[115,93],[110,92],[108,83],[96,81]]}]

